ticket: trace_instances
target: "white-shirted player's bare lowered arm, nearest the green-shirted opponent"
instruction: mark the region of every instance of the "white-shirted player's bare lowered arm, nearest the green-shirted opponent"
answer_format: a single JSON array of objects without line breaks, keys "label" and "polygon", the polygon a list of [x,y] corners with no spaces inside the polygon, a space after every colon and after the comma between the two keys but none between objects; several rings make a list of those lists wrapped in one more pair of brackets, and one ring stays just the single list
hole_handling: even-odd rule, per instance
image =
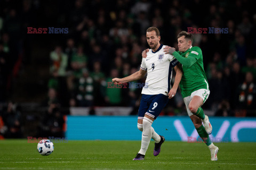
[{"label": "white-shirted player's bare lowered arm, nearest the green-shirted opponent", "polygon": [[169,99],[173,98],[176,95],[177,89],[179,87],[180,80],[182,78],[182,68],[181,64],[178,64],[174,67],[174,70],[176,72],[175,80],[172,86],[172,89],[169,91],[168,97]]}]

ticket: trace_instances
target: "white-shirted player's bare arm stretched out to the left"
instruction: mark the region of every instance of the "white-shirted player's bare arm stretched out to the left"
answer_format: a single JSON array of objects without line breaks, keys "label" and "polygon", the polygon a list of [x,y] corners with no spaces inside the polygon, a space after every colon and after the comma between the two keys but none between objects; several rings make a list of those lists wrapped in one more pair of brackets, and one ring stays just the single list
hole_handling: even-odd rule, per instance
[{"label": "white-shirted player's bare arm stretched out to the left", "polygon": [[139,79],[143,78],[146,73],[147,73],[147,71],[140,69],[139,71],[137,71],[125,78],[122,78],[122,79],[114,78],[114,79],[112,79],[112,81],[114,82],[114,84],[123,84],[123,83],[127,83],[130,81],[139,80]]}]

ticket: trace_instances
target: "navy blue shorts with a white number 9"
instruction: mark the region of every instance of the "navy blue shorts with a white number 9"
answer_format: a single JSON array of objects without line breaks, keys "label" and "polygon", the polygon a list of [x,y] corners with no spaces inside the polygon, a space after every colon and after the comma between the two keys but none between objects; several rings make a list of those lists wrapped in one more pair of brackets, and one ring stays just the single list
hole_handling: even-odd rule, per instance
[{"label": "navy blue shorts with a white number 9", "polygon": [[138,113],[138,119],[143,119],[144,115],[153,117],[154,119],[159,116],[162,109],[168,103],[168,96],[163,94],[159,95],[143,95],[140,100],[140,108]]}]

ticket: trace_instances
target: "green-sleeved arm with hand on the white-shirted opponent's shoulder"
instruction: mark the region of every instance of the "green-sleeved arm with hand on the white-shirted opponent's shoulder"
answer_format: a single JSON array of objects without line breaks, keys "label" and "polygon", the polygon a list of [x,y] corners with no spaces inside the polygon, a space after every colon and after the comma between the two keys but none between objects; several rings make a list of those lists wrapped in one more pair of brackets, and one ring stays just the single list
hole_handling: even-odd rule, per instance
[{"label": "green-sleeved arm with hand on the white-shirted opponent's shoulder", "polygon": [[182,65],[190,67],[196,62],[196,58],[192,56],[182,57],[178,52],[175,51],[175,48],[166,46],[164,47],[165,54],[173,55]]}]

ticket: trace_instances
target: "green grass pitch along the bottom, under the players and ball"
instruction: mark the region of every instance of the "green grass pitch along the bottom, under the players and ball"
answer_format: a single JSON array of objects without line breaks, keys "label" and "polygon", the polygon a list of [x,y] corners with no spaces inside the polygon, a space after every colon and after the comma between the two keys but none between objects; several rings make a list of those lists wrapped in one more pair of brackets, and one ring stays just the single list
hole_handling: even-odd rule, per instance
[{"label": "green grass pitch along the bottom, under the players and ball", "polygon": [[212,162],[204,143],[165,141],[153,155],[150,142],[145,160],[134,161],[140,141],[71,141],[54,143],[50,156],[37,152],[27,140],[0,141],[0,169],[256,169],[256,143],[216,143]]}]

